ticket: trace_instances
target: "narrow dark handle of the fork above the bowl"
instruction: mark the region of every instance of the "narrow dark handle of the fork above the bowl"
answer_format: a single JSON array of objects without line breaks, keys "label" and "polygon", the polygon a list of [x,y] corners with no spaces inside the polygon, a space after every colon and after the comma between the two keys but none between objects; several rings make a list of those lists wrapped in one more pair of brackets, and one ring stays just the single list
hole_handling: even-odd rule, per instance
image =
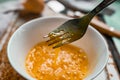
[{"label": "narrow dark handle of the fork above the bowl", "polygon": [[115,2],[116,0],[104,0],[102,1],[96,8],[94,8],[90,13],[88,13],[88,17],[91,20],[96,14],[98,14],[101,10]]}]

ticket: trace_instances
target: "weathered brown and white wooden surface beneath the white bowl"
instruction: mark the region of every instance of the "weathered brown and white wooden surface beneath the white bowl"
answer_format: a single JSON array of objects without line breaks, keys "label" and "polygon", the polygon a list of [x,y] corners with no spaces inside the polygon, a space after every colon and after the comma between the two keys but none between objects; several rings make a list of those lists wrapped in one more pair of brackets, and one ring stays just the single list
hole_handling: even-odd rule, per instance
[{"label": "weathered brown and white wooden surface beneath the white bowl", "polygon": [[[0,22],[0,80],[26,80],[20,76],[10,65],[7,58],[7,44],[11,35],[15,32],[20,25],[25,22],[38,17],[44,16],[63,16],[52,12],[47,6],[41,15],[25,15],[21,16],[19,12],[10,12],[7,14],[1,14],[3,16],[3,22]],[[7,17],[7,18],[6,18]],[[8,19],[9,18],[9,19]],[[1,20],[1,17],[0,17]],[[1,26],[2,25],[2,26]],[[3,27],[5,26],[5,27]],[[3,27],[3,28],[2,28]],[[17,56],[16,56],[17,57]],[[109,53],[109,60],[105,69],[94,80],[120,80],[120,76],[116,69],[116,65],[113,61],[111,52]]]}]

